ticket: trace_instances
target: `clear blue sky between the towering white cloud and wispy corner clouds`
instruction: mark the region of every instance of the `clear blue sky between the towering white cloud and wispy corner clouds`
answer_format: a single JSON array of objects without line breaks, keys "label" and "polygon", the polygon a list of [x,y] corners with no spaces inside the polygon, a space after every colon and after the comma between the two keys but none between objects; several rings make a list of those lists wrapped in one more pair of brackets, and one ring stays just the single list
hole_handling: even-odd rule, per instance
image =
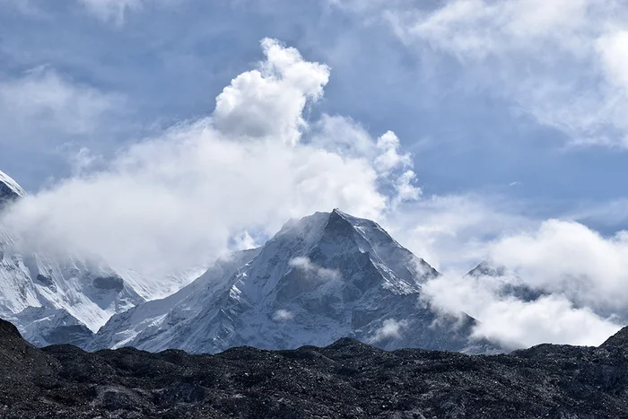
[{"label": "clear blue sky between the towering white cloud and wispy corner clouds", "polygon": [[[31,191],[50,176],[67,176],[60,144],[66,144],[64,152],[89,144],[110,153],[151,130],[210,113],[222,87],[260,58],[259,40],[271,37],[331,67],[316,112],[351,116],[374,135],[395,131],[414,155],[425,194],[500,194],[529,201],[547,215],[628,195],[628,185],[619,181],[628,175],[624,149],[566,146],[569,134],[521,114],[517,98],[469,75],[482,72],[480,78],[490,79],[501,65],[468,65],[427,41],[404,44],[374,17],[378,11],[326,2],[189,0],[126,2],[123,13],[115,2],[101,10],[91,3],[98,4],[4,1],[4,80],[43,66],[68,83],[121,98],[108,116],[116,127],[106,133],[68,135],[61,128],[48,139],[30,127],[19,135],[21,144],[3,144],[0,167]],[[41,147],[29,143],[34,136]]]}]

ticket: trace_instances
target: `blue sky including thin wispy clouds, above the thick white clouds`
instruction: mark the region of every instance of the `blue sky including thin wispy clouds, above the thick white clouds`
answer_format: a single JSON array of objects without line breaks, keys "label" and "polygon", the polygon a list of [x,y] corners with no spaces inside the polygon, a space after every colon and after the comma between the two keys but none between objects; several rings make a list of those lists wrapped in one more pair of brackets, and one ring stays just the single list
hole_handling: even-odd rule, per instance
[{"label": "blue sky including thin wispy clouds, above the thick white clouds", "polygon": [[[331,68],[324,97],[306,118],[342,115],[375,137],[394,131],[412,153],[423,197],[481,196],[529,217],[621,230],[624,127],[607,116],[593,128],[573,120],[608,103],[619,114],[628,109],[625,98],[609,99],[624,88],[586,46],[606,36],[591,27],[616,26],[624,8],[506,4],[4,0],[0,80],[13,88],[3,106],[16,114],[4,124],[0,168],[36,192],[70,177],[82,149],[108,161],[121,147],[203,118],[222,88],[263,57],[259,42],[269,37]],[[456,8],[465,7],[462,18]],[[534,13],[515,18],[517,7]],[[571,14],[561,19],[573,22],[552,20],[561,8]],[[516,32],[523,24],[536,31]],[[581,48],[562,38],[574,34]],[[24,80],[70,97],[37,108],[37,98],[27,103]],[[526,85],[538,97],[520,92]],[[538,102],[552,92],[544,109]],[[15,96],[24,101],[18,109]],[[587,96],[591,104],[572,106]],[[78,108],[89,110],[76,115]],[[590,144],[576,144],[581,135],[591,135]]]}]

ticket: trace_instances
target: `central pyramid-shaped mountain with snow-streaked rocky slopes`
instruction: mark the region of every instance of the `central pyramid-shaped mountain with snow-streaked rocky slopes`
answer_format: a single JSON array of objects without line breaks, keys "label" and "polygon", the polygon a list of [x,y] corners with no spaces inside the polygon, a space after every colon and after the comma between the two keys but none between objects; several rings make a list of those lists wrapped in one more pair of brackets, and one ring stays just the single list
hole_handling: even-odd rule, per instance
[{"label": "central pyramid-shaped mountain with snow-streaked rocky slopes", "polygon": [[169,298],[114,316],[90,347],[215,353],[352,336],[387,349],[464,350],[474,320],[442,319],[420,302],[435,275],[377,223],[317,213],[287,223],[260,249],[219,260]]}]

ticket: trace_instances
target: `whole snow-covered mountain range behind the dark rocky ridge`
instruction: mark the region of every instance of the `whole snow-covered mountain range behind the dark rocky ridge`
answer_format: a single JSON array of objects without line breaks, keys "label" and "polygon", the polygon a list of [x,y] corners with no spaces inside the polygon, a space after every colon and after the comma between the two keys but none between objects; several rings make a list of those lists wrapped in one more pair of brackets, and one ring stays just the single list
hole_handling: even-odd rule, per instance
[{"label": "whole snow-covered mountain range behind the dark rocky ridge", "polygon": [[[24,190],[0,172],[0,215],[20,199]],[[423,283],[440,275],[432,266],[377,223],[337,209],[286,223],[263,247],[219,258],[183,288],[185,275],[152,281],[97,257],[24,250],[8,227],[0,218],[0,317],[39,346],[218,353],[345,336],[385,349],[487,345],[469,340],[474,319],[444,317],[423,301]],[[147,301],[159,290],[168,296]]]}]

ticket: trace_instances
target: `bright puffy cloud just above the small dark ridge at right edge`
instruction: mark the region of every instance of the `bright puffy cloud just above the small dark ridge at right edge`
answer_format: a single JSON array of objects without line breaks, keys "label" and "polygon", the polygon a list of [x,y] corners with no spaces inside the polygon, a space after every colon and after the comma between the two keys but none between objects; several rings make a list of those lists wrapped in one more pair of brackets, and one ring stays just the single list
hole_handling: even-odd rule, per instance
[{"label": "bright puffy cloud just above the small dark ridge at right edge", "polygon": [[605,238],[580,223],[548,220],[495,241],[490,253],[533,288],[606,315],[628,314],[628,231]]}]

